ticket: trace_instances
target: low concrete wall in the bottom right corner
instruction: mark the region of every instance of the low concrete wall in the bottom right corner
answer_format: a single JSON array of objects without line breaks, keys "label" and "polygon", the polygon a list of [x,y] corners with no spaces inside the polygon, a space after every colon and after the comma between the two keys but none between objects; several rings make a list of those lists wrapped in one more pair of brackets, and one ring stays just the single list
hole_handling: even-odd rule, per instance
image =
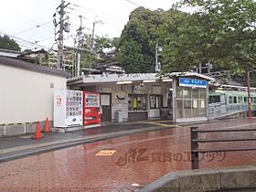
[{"label": "low concrete wall in the bottom right corner", "polygon": [[256,191],[256,166],[172,172],[140,192]]}]

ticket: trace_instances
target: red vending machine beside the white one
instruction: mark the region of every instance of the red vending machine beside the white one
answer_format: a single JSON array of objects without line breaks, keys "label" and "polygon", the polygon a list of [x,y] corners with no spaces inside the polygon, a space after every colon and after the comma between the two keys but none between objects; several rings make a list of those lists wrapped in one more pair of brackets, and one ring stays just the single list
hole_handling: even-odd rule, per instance
[{"label": "red vending machine beside the white one", "polygon": [[83,92],[83,125],[101,125],[100,93]]}]

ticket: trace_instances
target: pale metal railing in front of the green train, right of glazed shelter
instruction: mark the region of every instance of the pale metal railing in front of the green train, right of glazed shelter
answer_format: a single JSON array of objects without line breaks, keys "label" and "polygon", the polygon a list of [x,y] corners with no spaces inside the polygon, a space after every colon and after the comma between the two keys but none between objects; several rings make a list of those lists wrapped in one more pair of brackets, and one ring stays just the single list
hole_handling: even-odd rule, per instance
[{"label": "pale metal railing in front of the green train, right of glazed shelter", "polygon": [[[256,103],[252,103],[252,110],[256,110]],[[233,112],[248,111],[248,103],[240,103],[233,105],[220,104],[220,102],[208,105],[208,118],[215,119]]]}]

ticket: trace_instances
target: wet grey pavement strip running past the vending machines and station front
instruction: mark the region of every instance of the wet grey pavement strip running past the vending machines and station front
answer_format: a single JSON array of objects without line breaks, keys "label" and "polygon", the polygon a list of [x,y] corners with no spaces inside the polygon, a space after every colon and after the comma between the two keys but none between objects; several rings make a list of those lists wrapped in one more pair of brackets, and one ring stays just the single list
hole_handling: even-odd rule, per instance
[{"label": "wet grey pavement strip running past the vending machines and station front", "polygon": [[[169,123],[169,124],[168,124]],[[19,157],[65,148],[77,144],[84,144],[102,139],[123,136],[132,133],[161,130],[179,126],[177,124],[160,123],[159,121],[144,121],[132,123],[101,123],[100,127],[82,129],[73,132],[43,133],[40,140],[33,140],[33,134],[0,139],[0,162]]]}]

